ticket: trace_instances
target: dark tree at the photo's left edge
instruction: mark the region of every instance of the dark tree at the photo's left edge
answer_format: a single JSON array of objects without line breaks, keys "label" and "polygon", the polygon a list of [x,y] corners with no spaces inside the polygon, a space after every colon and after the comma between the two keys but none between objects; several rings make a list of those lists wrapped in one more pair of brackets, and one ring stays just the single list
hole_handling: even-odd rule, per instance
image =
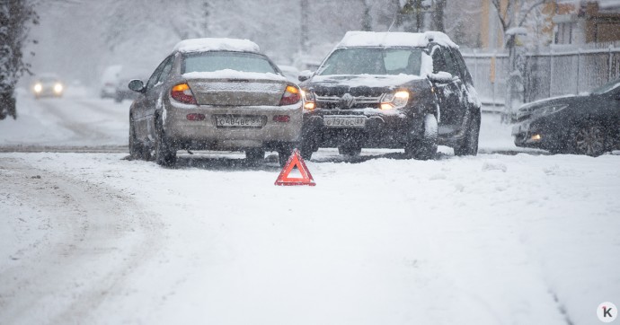
[{"label": "dark tree at the photo's left edge", "polygon": [[25,61],[22,48],[29,41],[30,25],[38,23],[39,16],[31,1],[0,2],[0,119],[17,118],[15,84],[24,73],[30,73],[30,64]]}]

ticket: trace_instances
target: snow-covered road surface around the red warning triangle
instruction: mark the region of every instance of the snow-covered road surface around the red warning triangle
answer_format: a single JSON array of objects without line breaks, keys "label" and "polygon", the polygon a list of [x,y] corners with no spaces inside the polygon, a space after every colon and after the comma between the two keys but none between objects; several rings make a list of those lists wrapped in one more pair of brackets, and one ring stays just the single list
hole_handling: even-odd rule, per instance
[{"label": "snow-covered road surface around the red warning triangle", "polygon": [[[86,116],[103,136],[48,145],[124,145],[124,120]],[[0,323],[597,323],[620,302],[620,156],[494,154],[496,122],[477,157],[322,150],[314,188],[234,153],[0,154]]]}]

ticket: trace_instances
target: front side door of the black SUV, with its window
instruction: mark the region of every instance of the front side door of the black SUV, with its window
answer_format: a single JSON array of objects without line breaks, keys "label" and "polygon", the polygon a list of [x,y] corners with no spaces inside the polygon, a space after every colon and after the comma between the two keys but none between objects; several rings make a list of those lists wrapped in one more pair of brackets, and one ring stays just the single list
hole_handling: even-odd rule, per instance
[{"label": "front side door of the black SUV, with its window", "polygon": [[464,110],[462,108],[462,85],[460,73],[449,49],[435,45],[430,50],[433,59],[433,73],[447,72],[452,75],[450,81],[435,82],[439,101],[439,134],[448,134],[460,127]]}]

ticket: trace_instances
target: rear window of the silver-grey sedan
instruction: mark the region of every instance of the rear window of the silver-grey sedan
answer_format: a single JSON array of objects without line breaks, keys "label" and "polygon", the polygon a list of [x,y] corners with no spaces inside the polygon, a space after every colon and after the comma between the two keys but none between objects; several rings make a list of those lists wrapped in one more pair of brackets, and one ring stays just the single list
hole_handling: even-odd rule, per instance
[{"label": "rear window of the silver-grey sedan", "polygon": [[277,74],[270,62],[260,54],[228,51],[187,54],[183,59],[182,74],[215,72],[226,69]]}]

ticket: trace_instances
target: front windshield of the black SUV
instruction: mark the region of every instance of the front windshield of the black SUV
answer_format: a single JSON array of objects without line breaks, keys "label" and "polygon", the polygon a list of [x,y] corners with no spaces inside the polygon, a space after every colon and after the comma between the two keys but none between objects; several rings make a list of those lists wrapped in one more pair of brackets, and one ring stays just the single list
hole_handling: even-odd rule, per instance
[{"label": "front windshield of the black SUV", "polygon": [[339,48],[318,75],[420,75],[421,48]]}]

